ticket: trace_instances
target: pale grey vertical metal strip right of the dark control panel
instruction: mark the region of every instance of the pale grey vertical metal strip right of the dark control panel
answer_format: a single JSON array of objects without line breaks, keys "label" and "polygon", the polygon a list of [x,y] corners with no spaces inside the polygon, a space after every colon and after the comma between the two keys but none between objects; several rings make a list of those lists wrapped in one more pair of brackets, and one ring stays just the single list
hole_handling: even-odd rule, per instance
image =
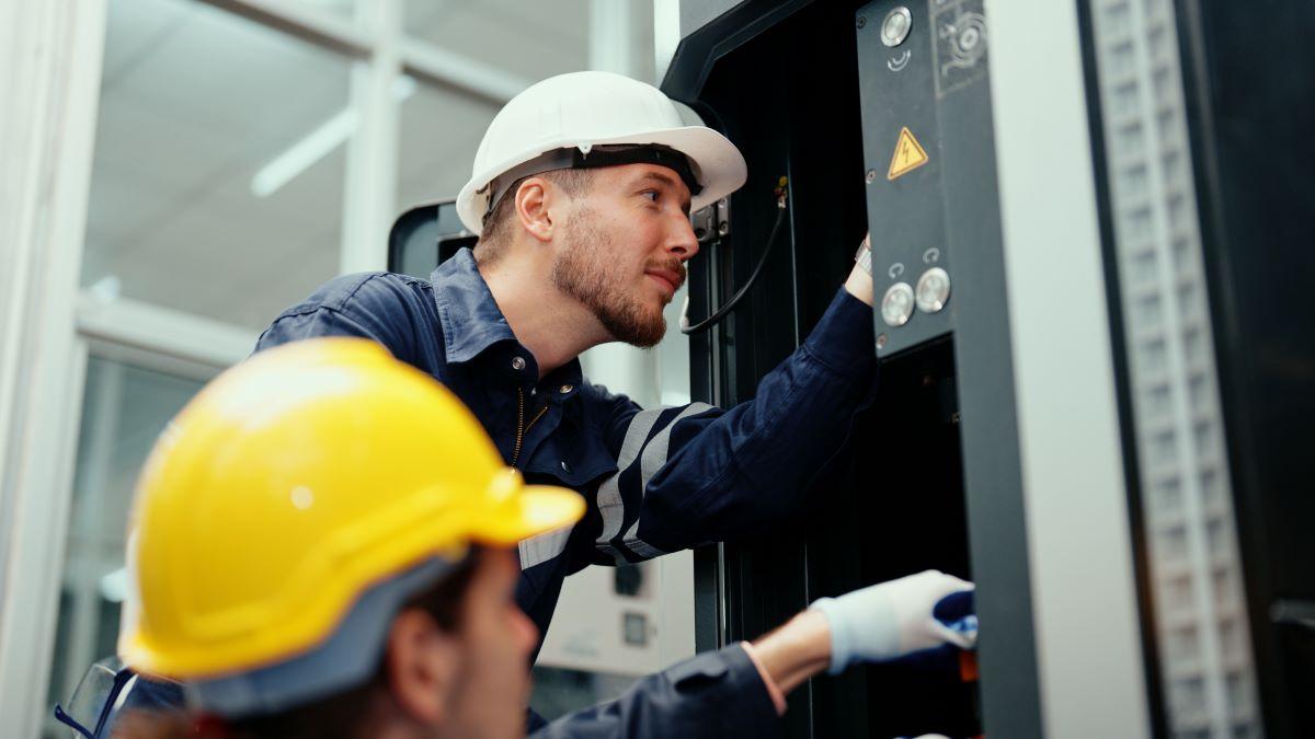
[{"label": "pale grey vertical metal strip right of the dark control panel", "polygon": [[1044,732],[1147,736],[1077,8],[986,14]]}]

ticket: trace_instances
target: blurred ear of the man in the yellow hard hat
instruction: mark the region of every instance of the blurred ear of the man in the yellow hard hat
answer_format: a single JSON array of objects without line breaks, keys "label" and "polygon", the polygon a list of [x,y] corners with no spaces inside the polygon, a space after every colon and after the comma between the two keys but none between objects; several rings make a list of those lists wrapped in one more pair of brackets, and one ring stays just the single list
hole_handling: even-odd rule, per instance
[{"label": "blurred ear of the man in the yellow hard hat", "polygon": [[406,715],[426,726],[447,721],[459,657],[458,636],[439,629],[431,615],[414,608],[397,614],[384,659],[388,688]]}]

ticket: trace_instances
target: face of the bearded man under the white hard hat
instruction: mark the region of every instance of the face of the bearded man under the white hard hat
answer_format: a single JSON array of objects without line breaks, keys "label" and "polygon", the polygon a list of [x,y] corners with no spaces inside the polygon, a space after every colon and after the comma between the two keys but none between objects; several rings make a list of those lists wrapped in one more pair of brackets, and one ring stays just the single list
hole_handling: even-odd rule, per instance
[{"label": "face of the bearded man under the white hard hat", "polygon": [[594,170],[563,225],[552,281],[589,308],[617,341],[650,347],[667,331],[663,306],[698,252],[689,188],[656,164]]}]

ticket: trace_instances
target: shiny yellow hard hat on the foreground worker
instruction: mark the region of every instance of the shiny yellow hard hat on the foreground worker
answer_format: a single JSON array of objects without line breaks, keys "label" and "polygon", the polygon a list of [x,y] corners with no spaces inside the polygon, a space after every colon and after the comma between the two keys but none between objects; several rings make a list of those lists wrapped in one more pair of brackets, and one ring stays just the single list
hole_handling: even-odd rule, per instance
[{"label": "shiny yellow hard hat on the foreground worker", "polygon": [[583,513],[573,490],[522,484],[450,391],[379,345],[281,346],[210,383],[151,451],[120,656],[179,680],[274,664],[426,559]]}]

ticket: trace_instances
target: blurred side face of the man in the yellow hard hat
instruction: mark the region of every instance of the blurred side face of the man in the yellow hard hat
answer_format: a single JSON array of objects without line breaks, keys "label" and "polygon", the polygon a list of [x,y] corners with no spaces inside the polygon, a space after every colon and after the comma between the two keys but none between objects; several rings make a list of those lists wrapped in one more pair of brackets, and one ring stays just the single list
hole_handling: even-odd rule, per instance
[{"label": "blurred side face of the man in the yellow hard hat", "polygon": [[509,550],[484,550],[463,602],[462,675],[444,736],[525,736],[534,622],[515,605],[521,569]]}]

